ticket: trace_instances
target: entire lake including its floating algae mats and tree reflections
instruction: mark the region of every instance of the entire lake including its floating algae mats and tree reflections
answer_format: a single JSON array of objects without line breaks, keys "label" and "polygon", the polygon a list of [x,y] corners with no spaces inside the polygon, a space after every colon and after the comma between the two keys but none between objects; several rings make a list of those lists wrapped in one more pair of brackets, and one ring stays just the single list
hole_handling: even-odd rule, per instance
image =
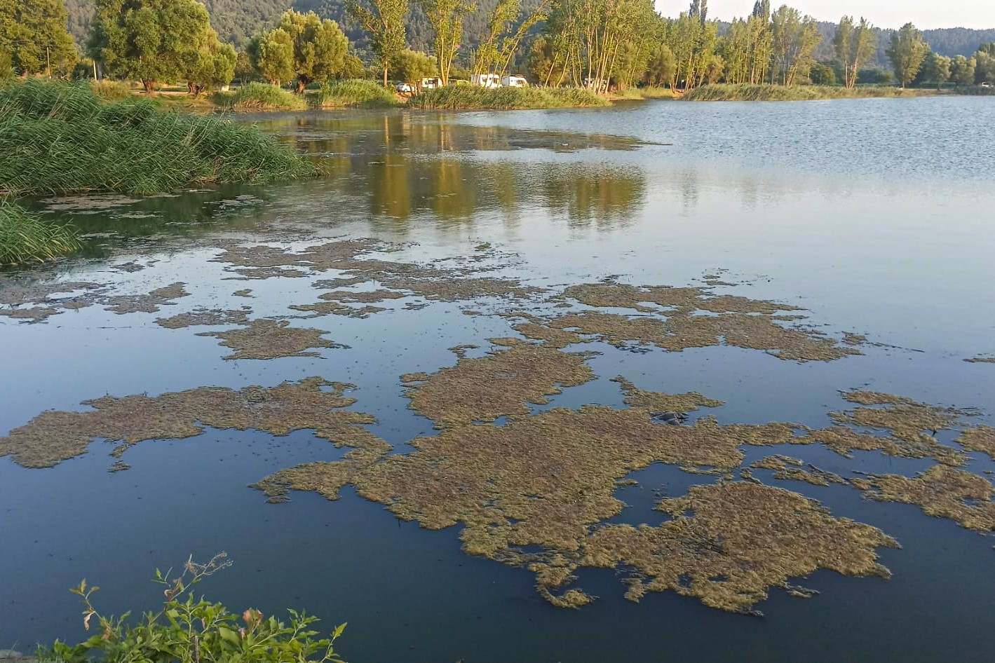
[{"label": "entire lake including its floating algae mats and tree reflections", "polygon": [[[0,435],[45,411],[82,413],[89,409],[81,404],[105,396],[149,397],[127,402],[116,415],[66,415],[54,427],[39,426],[23,442],[37,448],[0,458],[0,648],[82,638],[81,608],[68,588],[83,578],[100,585],[101,609],[138,611],[161,596],[148,581],[156,568],[226,551],[234,566],[206,580],[204,593],[238,611],[305,608],[329,629],[348,621],[340,649],[355,663],[990,660],[984,633],[995,607],[992,540],[951,516],[990,518],[987,488],[946,503],[948,517],[932,518],[917,503],[869,499],[885,489],[861,483],[947,467],[935,448],[941,444],[942,453],[966,456],[958,456],[958,471],[990,488],[992,458],[970,448],[962,454],[954,442],[965,428],[995,422],[995,365],[965,361],[995,355],[990,98],[301,112],[238,121],[258,122],[310,154],[326,175],[149,198],[35,201],[36,209],[86,234],[85,254],[0,273]],[[245,249],[261,246],[271,249]],[[34,287],[53,282],[77,285]],[[169,287],[176,283],[183,285]],[[591,287],[567,289],[581,284]],[[622,295],[630,290],[622,284],[701,289],[674,305],[669,298],[676,293],[664,289],[627,294],[627,303]],[[594,310],[614,317],[584,316]],[[173,318],[183,313],[204,319]],[[557,322],[574,314],[575,323]],[[682,324],[695,325],[685,336],[674,332],[679,314]],[[612,326],[665,319],[666,337]],[[288,325],[280,327],[283,321]],[[523,336],[546,338],[523,332],[529,321],[549,339],[570,341],[545,341],[541,351],[521,345]],[[774,327],[793,335],[782,337]],[[320,335],[281,336],[290,328]],[[248,338],[229,334],[240,330]],[[518,344],[489,342],[507,337]],[[274,350],[267,339],[287,347],[273,358],[251,358]],[[478,347],[460,348],[468,345]],[[520,373],[473,364],[507,352],[525,353],[515,364]],[[561,355],[577,352],[596,354],[571,364],[576,380],[567,379]],[[480,370],[437,373],[457,365],[459,355]],[[417,373],[430,375],[409,375]],[[434,383],[439,376],[447,380]],[[598,427],[579,409],[624,411],[626,398],[639,394],[621,391],[616,376],[648,392],[699,393],[724,405],[690,407],[682,426],[654,424],[665,427],[662,446],[631,449],[613,465],[610,452],[636,433],[623,429],[617,443],[585,442],[580,452],[570,435],[615,439],[612,425]],[[182,403],[159,398],[205,387],[235,390],[224,392],[227,399],[250,386],[311,377],[354,386],[342,396],[355,403],[333,407],[371,414],[375,422],[343,414],[343,427],[320,434],[311,423],[320,416],[307,404],[316,399],[321,410],[320,399],[339,398],[329,385],[280,402],[299,406],[297,423],[260,423],[265,417],[254,404],[270,397],[255,392],[222,414],[210,406],[221,392],[196,392]],[[435,392],[434,384],[441,385]],[[520,403],[518,389],[525,394]],[[852,414],[862,402],[845,398],[851,390],[906,397],[864,405],[922,408],[914,412],[943,421],[949,415],[950,424],[935,431],[912,425],[908,434],[868,425]],[[424,406],[415,412],[420,392]],[[830,417],[841,412],[851,414]],[[574,432],[561,440],[555,426],[532,427],[552,415]],[[177,416],[186,418],[170,418]],[[707,416],[722,431],[790,422],[796,436],[836,423],[887,436],[890,446],[841,453],[794,443],[791,433],[761,445],[740,443],[739,432],[716,432],[668,460],[661,449],[710,425]],[[285,423],[289,434],[274,434],[287,432],[280,429]],[[639,425],[639,435],[656,440],[656,428]],[[146,428],[151,432],[135,432]],[[491,441],[475,436],[481,429]],[[385,440],[390,450],[373,461],[350,461],[350,447],[380,443],[356,430]],[[137,443],[115,452],[129,434]],[[343,435],[359,439],[330,443]],[[545,471],[553,456],[534,449],[547,439],[548,453],[567,458],[551,475],[558,481],[542,479],[536,495],[501,492],[498,484],[514,485],[539,464]],[[695,460],[711,458],[699,452],[721,444],[732,454],[728,466],[719,458]],[[815,485],[744,469],[771,454],[851,483]],[[412,469],[405,455],[428,460]],[[250,487],[313,462],[347,469],[347,479],[318,481],[337,500],[313,491],[285,494],[285,475],[269,492],[287,503],[269,503]],[[718,471],[686,471],[704,465]],[[492,476],[498,466],[502,474]],[[384,479],[384,467],[397,471]],[[475,467],[490,469],[478,476]],[[594,475],[601,483],[582,482]],[[569,504],[595,517],[584,520],[550,497],[560,499],[569,481],[579,486]],[[636,581],[652,578],[657,567],[646,566],[650,561],[632,551],[600,567],[572,557],[574,541],[593,550],[589,535],[624,534],[625,524],[654,531],[687,525],[710,532],[711,547],[733,546],[741,533],[715,536],[722,523],[696,524],[708,504],[692,503],[671,517],[654,505],[696,485],[754,481],[818,500],[836,529],[813,532],[849,533],[849,521],[840,519],[853,519],[894,537],[900,548],[875,547],[891,579],[865,577],[874,575],[866,565],[867,573],[832,571],[836,537],[810,537],[812,550],[791,548],[784,566],[793,568],[791,556],[798,555],[816,560],[816,570],[768,582],[766,599],[751,594],[746,602],[763,613],[756,616],[699,600],[748,574],[749,565],[728,549],[701,552],[688,543],[690,534],[678,544],[665,539],[658,553],[683,546],[694,564],[703,568],[707,560],[715,565],[708,569],[726,571],[682,573],[680,586],[651,587],[638,602],[624,597],[624,580],[640,562]],[[585,492],[595,488],[626,506],[603,517],[604,501]],[[537,502],[548,502],[549,510]],[[752,522],[750,504],[735,512],[737,523]],[[485,520],[497,513],[499,522],[468,524],[454,515],[457,505]],[[535,522],[545,519],[546,529],[524,534],[531,521],[522,513],[541,514]],[[569,566],[576,582],[563,587],[597,597],[579,609],[544,600],[535,576],[522,568],[559,564],[536,542],[552,540],[556,521],[571,518],[588,529],[557,548],[576,562]],[[830,525],[825,515],[812,518],[818,527]],[[444,527],[450,520],[459,524]],[[782,532],[768,549],[762,532],[747,534],[742,541],[756,546],[761,566],[791,539]],[[488,559],[461,550],[461,535],[466,542],[509,538],[490,556],[497,559]],[[507,563],[508,551],[516,564]],[[654,564],[661,555],[651,556]],[[791,595],[796,584],[819,593]]]}]

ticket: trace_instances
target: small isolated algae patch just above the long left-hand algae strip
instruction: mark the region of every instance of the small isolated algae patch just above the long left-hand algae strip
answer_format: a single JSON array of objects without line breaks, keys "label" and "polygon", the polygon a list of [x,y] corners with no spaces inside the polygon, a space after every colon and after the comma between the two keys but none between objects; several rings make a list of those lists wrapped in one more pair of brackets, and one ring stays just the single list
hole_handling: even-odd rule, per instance
[{"label": "small isolated algae patch just above the long left-hand algae strip", "polygon": [[291,327],[287,320],[253,320],[248,326],[223,332],[201,332],[214,336],[221,345],[235,350],[225,359],[276,359],[278,357],[320,357],[312,348],[344,348],[321,338],[321,329]]}]

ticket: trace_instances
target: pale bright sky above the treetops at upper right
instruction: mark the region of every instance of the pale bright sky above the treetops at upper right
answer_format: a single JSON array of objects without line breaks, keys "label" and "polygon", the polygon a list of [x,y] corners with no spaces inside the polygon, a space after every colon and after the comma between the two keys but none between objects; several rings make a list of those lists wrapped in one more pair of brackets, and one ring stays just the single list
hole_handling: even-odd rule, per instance
[{"label": "pale bright sky above the treetops at upper right", "polygon": [[[656,0],[665,16],[688,9],[690,0]],[[772,0],[780,7],[783,0]],[[820,21],[839,21],[844,14],[865,16],[880,28],[899,28],[911,21],[917,28],[995,28],[995,0],[790,0],[787,4]],[[728,21],[753,9],[753,0],[708,0],[708,18]]]}]

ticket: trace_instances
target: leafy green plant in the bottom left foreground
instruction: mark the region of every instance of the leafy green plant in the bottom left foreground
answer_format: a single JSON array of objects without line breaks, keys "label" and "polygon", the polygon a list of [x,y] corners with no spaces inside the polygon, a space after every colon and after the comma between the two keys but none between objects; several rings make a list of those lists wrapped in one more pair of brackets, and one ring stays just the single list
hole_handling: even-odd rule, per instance
[{"label": "leafy green plant in the bottom left foreground", "polygon": [[[266,617],[249,608],[242,614],[229,612],[221,603],[195,598],[193,586],[231,566],[224,553],[207,564],[187,560],[178,578],[155,572],[155,582],[164,585],[165,602],[157,612],[147,612],[136,624],[129,613],[105,617],[91,596],[99,587],[83,580],[72,589],[83,599],[83,623],[98,632],[70,645],[57,640],[41,647],[41,663],[342,663],[334,641],[345,629],[337,626],[328,637],[311,630],[316,617],[288,610],[290,621]],[[96,620],[96,622],[95,622]]]}]

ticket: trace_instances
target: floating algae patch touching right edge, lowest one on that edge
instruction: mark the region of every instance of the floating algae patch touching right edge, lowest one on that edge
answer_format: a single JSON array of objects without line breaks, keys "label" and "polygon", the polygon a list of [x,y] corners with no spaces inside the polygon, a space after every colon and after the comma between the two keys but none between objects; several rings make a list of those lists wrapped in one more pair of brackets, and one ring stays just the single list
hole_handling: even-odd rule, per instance
[{"label": "floating algae patch touching right edge, lowest one on that edge", "polygon": [[914,504],[927,516],[949,518],[968,530],[995,531],[995,491],[983,476],[934,465],[911,478],[878,474],[854,483],[872,499]]}]

